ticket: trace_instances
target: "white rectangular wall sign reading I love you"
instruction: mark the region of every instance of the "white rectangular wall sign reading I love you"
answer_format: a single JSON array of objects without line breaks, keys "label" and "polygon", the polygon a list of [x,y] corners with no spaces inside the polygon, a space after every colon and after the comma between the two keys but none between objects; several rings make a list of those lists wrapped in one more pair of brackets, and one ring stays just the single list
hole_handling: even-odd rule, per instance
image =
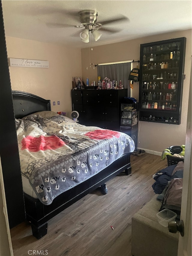
[{"label": "white rectangular wall sign reading I love you", "polygon": [[49,61],[36,59],[9,58],[9,66],[25,68],[49,68]]}]

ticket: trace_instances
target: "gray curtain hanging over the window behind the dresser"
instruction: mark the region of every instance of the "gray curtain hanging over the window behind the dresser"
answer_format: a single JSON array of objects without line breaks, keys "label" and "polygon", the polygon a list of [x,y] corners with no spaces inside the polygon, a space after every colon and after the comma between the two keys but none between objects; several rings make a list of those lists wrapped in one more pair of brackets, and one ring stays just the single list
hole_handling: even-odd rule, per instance
[{"label": "gray curtain hanging over the window behind the dresser", "polygon": [[122,81],[123,88],[128,89],[128,97],[131,95],[130,80],[128,80],[131,72],[131,62],[99,65],[97,67],[98,76],[101,77],[101,81],[108,77],[110,81],[116,80],[118,85],[119,81]]}]

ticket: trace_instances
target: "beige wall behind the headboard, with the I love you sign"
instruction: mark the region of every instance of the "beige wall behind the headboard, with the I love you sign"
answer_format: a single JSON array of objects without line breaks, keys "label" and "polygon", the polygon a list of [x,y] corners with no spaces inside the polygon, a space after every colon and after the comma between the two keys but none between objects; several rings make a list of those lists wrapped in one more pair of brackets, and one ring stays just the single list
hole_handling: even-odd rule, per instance
[{"label": "beige wall behind the headboard, with the I love you sign", "polygon": [[81,77],[80,49],[8,36],[6,44],[8,58],[49,61],[49,68],[9,67],[12,90],[50,99],[53,111],[65,111],[70,116],[72,77]]}]

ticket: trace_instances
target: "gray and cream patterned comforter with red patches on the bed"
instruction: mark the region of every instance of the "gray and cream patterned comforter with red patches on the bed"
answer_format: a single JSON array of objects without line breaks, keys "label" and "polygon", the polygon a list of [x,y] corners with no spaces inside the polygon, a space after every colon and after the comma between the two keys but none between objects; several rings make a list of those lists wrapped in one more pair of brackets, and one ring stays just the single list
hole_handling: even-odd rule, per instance
[{"label": "gray and cream patterned comforter with red patches on the bed", "polygon": [[30,115],[15,121],[22,175],[46,205],[134,151],[127,134],[80,125],[65,116]]}]

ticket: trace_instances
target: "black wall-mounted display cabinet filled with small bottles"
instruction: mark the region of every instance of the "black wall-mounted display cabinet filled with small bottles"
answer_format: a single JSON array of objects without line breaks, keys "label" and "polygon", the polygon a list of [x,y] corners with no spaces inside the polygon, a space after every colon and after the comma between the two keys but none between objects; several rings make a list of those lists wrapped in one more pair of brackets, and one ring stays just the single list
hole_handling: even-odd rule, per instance
[{"label": "black wall-mounted display cabinet filled with small bottles", "polygon": [[186,38],[140,45],[139,120],[181,123]]}]

